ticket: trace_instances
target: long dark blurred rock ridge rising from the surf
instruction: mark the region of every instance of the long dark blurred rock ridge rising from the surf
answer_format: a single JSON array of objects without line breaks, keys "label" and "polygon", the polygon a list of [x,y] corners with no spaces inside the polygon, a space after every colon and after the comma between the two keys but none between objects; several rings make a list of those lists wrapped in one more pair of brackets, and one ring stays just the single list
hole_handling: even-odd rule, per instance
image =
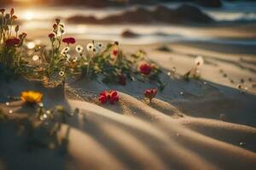
[{"label": "long dark blurred rock ridge rising from the surf", "polygon": [[79,15],[67,19],[67,22],[91,24],[150,24],[156,22],[167,24],[183,24],[188,22],[205,24],[212,21],[212,18],[204,14],[200,8],[189,4],[181,5],[176,9],[166,8],[164,6],[158,6],[154,10],[136,8],[127,10],[123,14],[112,14],[103,19]]}]

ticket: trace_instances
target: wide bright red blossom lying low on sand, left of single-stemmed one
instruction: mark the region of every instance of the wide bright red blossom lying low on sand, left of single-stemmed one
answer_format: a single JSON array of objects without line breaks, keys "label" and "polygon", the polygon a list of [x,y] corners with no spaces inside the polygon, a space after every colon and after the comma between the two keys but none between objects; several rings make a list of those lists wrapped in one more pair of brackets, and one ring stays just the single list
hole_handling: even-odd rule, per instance
[{"label": "wide bright red blossom lying low on sand, left of single-stemmed one", "polygon": [[109,102],[110,104],[114,104],[115,102],[119,101],[119,94],[115,90],[108,91],[102,91],[102,93],[99,96],[99,101],[102,104],[106,104]]}]

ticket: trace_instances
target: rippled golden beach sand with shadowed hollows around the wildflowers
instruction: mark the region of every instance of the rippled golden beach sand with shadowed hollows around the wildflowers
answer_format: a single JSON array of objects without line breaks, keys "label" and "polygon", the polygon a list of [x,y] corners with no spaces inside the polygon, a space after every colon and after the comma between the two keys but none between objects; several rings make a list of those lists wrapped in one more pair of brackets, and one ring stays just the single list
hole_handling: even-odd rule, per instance
[{"label": "rippled golden beach sand with shadowed hollows around the wildflowers", "polygon": [[[151,104],[143,98],[143,90],[154,87],[149,83],[127,82],[123,87],[70,79],[64,87],[46,89],[22,78],[1,80],[1,102],[7,95],[34,89],[44,93],[46,106],[79,108],[79,114],[58,133],[68,141],[66,154],[28,151],[26,137],[16,136],[12,125],[1,124],[0,169],[256,169],[255,49],[172,42],[164,44],[172,52],[155,50],[161,45],[121,45],[126,53],[143,48],[166,71],[177,68],[175,77],[161,77],[166,88]],[[205,58],[201,80],[183,81],[179,76],[194,65],[197,55]],[[247,90],[236,88],[238,83]],[[118,104],[97,102],[105,89],[119,91]],[[19,102],[0,108],[14,119],[32,112]]]}]

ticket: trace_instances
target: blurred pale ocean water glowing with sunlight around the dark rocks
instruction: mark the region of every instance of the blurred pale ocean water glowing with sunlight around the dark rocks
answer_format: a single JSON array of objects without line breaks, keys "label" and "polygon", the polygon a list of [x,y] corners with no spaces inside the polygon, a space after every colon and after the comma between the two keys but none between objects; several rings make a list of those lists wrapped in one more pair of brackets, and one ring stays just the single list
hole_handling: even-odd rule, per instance
[{"label": "blurred pale ocean water glowing with sunlight around the dark rocks", "polygon": [[[177,8],[180,3],[164,4],[169,8]],[[145,8],[154,8],[144,6]],[[24,8],[15,7],[16,13],[22,20],[22,29],[26,31],[35,31],[44,29],[50,31],[51,23],[55,18],[65,18],[76,14],[94,15],[102,18],[109,14],[119,14],[127,8],[82,8],[82,7],[42,7],[42,8]],[[256,2],[251,3],[224,3],[223,8],[202,8],[217,21],[237,21],[237,20],[255,20],[256,21]],[[120,34],[124,30],[131,30],[139,35],[136,38],[124,38]],[[177,41],[211,41],[217,43],[242,43],[256,44],[253,40],[222,40],[216,37],[202,34],[195,29],[186,26],[172,25],[116,25],[116,26],[96,26],[96,25],[75,25],[66,26],[67,33],[71,33],[80,39],[109,40],[122,43],[155,43],[155,42],[177,42]],[[135,41],[136,40],[136,41]]]}]

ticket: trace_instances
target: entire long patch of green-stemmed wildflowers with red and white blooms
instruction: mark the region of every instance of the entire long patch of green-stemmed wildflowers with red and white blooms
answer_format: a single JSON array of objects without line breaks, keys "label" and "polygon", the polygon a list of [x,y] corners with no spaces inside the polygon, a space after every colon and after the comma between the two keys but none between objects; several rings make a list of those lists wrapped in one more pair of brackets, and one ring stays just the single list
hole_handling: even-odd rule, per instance
[{"label": "entire long patch of green-stemmed wildflowers with red and white blooms", "polygon": [[[88,44],[75,44],[74,37],[65,37],[65,26],[55,20],[49,32],[50,48],[37,42],[25,42],[26,33],[18,34],[19,26],[14,9],[5,14],[1,9],[1,47],[0,62],[11,68],[19,68],[18,73],[29,80],[43,82],[46,87],[56,87],[67,77],[85,77],[105,83],[122,86],[127,81],[153,82],[162,90],[160,68],[145,58],[146,53],[139,50],[136,54],[125,55],[119,42],[103,44],[92,41]],[[23,43],[26,48],[23,50]]]}]

